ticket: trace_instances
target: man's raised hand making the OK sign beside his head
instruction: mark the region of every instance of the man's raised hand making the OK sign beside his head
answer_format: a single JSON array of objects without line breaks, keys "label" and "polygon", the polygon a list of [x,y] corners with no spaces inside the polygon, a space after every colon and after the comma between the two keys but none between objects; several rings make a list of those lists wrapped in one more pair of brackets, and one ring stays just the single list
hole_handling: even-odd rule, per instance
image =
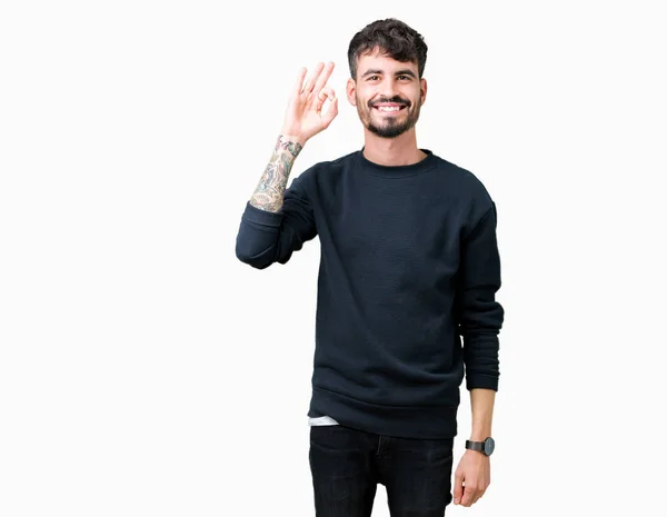
[{"label": "man's raised hand making the OK sign beside his head", "polygon": [[[327,129],[338,115],[338,98],[327,81],[334,71],[334,63],[318,63],[312,74],[303,83],[307,69],[302,68],[292,89],[291,97],[285,115],[282,135],[290,136],[290,140],[298,141],[301,146],[318,132]],[[325,101],[330,103],[327,111],[322,112]]]}]

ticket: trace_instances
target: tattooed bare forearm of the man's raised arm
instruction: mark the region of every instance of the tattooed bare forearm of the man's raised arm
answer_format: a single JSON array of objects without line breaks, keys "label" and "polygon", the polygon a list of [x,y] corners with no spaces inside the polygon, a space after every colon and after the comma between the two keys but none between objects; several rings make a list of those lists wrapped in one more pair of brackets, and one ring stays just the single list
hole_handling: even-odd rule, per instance
[{"label": "tattooed bare forearm of the man's raised arm", "polygon": [[250,198],[250,205],[271,212],[280,210],[291,167],[302,148],[301,143],[285,135],[278,137],[271,159]]}]

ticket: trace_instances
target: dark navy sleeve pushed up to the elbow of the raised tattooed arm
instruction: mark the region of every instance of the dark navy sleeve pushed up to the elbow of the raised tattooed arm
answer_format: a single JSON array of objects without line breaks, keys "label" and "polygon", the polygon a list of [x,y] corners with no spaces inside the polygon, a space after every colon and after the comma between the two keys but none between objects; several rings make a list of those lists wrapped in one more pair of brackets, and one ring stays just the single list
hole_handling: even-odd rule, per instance
[{"label": "dark navy sleeve pushed up to the elbow of the raised tattooed arm", "polygon": [[292,252],[317,236],[303,176],[296,177],[285,191],[278,212],[262,210],[249,201],[246,203],[236,241],[236,256],[240,261],[257,269],[275,262],[285,265]]}]

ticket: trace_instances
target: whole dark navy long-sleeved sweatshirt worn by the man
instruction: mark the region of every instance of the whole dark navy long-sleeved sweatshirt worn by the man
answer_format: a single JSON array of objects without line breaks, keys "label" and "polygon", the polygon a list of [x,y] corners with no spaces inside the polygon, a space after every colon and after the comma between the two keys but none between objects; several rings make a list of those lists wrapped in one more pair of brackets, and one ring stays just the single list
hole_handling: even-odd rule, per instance
[{"label": "whole dark navy long-sleeved sweatshirt worn by the man", "polygon": [[498,389],[496,205],[472,172],[421,150],[408,166],[374,163],[364,149],[313,165],[280,211],[246,205],[236,255],[285,265],[319,237],[308,416],[449,438],[464,378]]}]

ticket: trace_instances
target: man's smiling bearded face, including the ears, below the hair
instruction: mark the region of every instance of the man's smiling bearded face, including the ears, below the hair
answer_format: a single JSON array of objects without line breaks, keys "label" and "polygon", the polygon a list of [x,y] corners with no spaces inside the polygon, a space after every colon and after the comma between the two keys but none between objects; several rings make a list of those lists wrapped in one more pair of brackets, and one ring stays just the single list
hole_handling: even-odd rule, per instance
[{"label": "man's smiling bearded face, including the ears, below the hair", "polygon": [[419,79],[417,63],[396,61],[376,50],[359,58],[357,80],[348,80],[347,93],[369,131],[395,138],[417,123],[426,80]]}]

